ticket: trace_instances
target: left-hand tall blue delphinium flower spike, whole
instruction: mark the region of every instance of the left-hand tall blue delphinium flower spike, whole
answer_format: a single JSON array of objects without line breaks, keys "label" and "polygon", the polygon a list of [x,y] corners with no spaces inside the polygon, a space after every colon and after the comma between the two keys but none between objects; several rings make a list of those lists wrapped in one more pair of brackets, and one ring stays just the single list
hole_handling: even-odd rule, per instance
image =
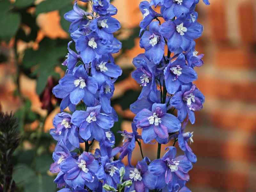
[{"label": "left-hand tall blue delphinium flower spike, whole", "polygon": [[[105,184],[117,188],[119,170],[124,170],[120,160],[114,161],[121,148],[112,148],[115,138],[110,130],[118,120],[110,99],[114,82],[122,74],[112,56],[122,46],[113,36],[120,28],[119,21],[112,17],[117,9],[110,0],[81,1],[91,5],[92,11],[79,8],[76,1],[74,9],[64,15],[71,22],[73,41],[68,43],[67,59],[62,63],[67,66],[65,76],[53,88],[62,101],[61,113],[54,117],[54,129],[50,130],[58,141],[50,171],[58,173],[54,182],[62,192],[105,191]],[[72,43],[76,50],[70,48]],[[76,110],[78,104],[81,110]],[[73,114],[64,112],[67,107]],[[92,154],[89,150],[95,140],[100,149]],[[80,150],[81,143],[85,151]],[[76,148],[79,154],[72,152]],[[129,186],[131,182],[121,185]]]}]

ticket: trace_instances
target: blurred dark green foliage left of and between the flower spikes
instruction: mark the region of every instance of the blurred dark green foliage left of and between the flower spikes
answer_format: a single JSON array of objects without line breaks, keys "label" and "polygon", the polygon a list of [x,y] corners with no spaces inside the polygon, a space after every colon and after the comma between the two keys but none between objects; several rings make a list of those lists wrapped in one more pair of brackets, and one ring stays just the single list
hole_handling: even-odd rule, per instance
[{"label": "blurred dark green foliage left of and between the flower spikes", "polygon": [[[51,94],[52,86],[56,85],[60,78],[60,74],[55,72],[55,68],[59,66],[63,72],[66,70],[61,63],[65,60],[67,54],[67,44],[71,39],[50,39],[44,37],[39,42],[39,48],[26,49],[20,55],[17,52],[17,43],[19,40],[24,42],[34,42],[37,38],[40,27],[37,25],[36,19],[40,13],[58,10],[60,13],[60,24],[62,28],[68,32],[70,23],[64,20],[63,15],[73,9],[73,0],[46,0],[39,4],[35,4],[35,0],[16,0],[11,3],[9,0],[0,0],[0,42],[14,41],[14,53],[16,58],[17,74],[15,83],[17,90],[15,95],[20,98],[23,105],[16,111],[15,115],[18,119],[19,130],[22,136],[22,142],[19,148],[14,152],[14,175],[13,178],[18,186],[17,191],[31,192],[54,192],[57,191],[56,184],[53,183],[56,175],[49,173],[49,166],[52,161],[52,151],[50,145],[56,143],[49,133],[44,133],[44,123],[47,116],[52,112],[53,108],[59,107],[60,100],[57,104],[51,103],[51,96],[48,97],[49,105],[53,108],[47,109],[47,116],[42,116],[31,110],[31,101],[20,92],[20,74],[25,74],[31,79],[36,80],[36,93],[41,96]],[[30,11],[28,11],[30,10]],[[34,10],[31,11],[31,10]],[[29,28],[29,32],[25,30]],[[138,37],[140,28],[129,29],[131,35],[122,39],[123,49],[117,56],[118,60],[126,50],[131,49],[135,43],[134,39]],[[121,32],[118,32],[118,36]],[[4,58],[4,56],[3,56]],[[123,75],[118,79],[122,81],[128,76],[133,69],[123,69]],[[53,79],[49,83],[49,79]],[[29,86],[29,85],[28,85]],[[47,93],[48,91],[48,93]],[[129,108],[137,97],[137,92],[129,91],[122,98],[113,100],[113,104],[120,104],[123,110]],[[47,96],[47,95],[46,95]],[[44,97],[45,98],[45,97]],[[47,103],[44,99],[43,103]],[[113,127],[113,132],[120,130],[123,117],[119,116],[119,122]],[[36,123],[36,127],[32,123]],[[116,144],[122,140],[120,134],[116,134]]]}]

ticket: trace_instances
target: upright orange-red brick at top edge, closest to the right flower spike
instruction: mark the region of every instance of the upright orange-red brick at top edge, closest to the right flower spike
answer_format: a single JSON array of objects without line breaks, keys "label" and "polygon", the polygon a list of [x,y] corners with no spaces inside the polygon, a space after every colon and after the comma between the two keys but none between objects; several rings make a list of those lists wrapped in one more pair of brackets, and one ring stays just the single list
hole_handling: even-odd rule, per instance
[{"label": "upright orange-red brick at top edge, closest to the right flower spike", "polygon": [[209,9],[210,24],[212,26],[212,36],[217,41],[228,40],[227,36],[227,22],[226,22],[226,9],[224,7],[223,0],[211,2]]}]

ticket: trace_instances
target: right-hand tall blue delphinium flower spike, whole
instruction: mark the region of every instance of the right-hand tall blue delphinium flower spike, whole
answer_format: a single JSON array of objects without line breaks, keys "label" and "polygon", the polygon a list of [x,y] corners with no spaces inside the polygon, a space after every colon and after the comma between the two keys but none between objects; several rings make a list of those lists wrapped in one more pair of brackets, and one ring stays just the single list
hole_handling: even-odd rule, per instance
[{"label": "right-hand tall blue delphinium flower spike, whole", "polygon": [[[209,5],[208,0],[203,0]],[[203,108],[204,96],[192,82],[197,79],[196,67],[203,65],[203,54],[197,55],[194,40],[202,35],[203,26],[197,22],[196,4],[199,0],[151,0],[140,3],[143,20],[140,22],[140,47],[145,49],[133,59],[136,70],[132,77],[142,91],[130,107],[136,114],[132,133],[122,132],[125,142],[120,159],[128,155],[124,179],[132,180],[125,191],[189,192],[189,170],[196,163],[196,155],[189,147],[193,132],[186,132],[194,112]],[[154,8],[159,7],[160,13]],[[161,20],[163,21],[161,23]],[[165,50],[166,49],[166,50]],[[165,55],[164,53],[167,53]],[[173,114],[176,114],[174,116]],[[141,136],[137,129],[142,129]],[[144,143],[158,143],[156,159],[144,157]],[[155,142],[156,141],[156,142]],[[178,141],[184,155],[176,156]],[[131,163],[132,151],[138,143],[142,160],[136,167]],[[165,148],[161,155],[161,145]]]}]

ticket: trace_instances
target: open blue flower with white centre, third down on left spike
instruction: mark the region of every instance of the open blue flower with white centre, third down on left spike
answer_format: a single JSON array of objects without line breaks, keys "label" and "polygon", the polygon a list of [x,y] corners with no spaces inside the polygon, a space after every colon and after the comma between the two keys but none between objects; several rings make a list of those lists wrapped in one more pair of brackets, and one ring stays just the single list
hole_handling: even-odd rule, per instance
[{"label": "open blue flower with white centre, third down on left spike", "polygon": [[112,42],[101,43],[100,37],[96,32],[81,36],[76,41],[76,49],[80,51],[81,59],[84,63],[90,63],[93,59],[100,59],[102,54],[113,51]]}]

